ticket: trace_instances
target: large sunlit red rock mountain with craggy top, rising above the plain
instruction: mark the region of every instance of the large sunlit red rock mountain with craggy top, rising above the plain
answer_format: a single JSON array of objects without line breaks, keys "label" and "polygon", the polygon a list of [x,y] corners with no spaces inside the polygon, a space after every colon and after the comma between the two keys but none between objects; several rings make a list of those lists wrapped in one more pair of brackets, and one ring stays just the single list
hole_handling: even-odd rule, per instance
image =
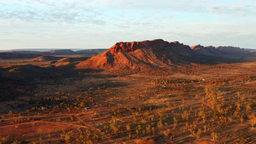
[{"label": "large sunlit red rock mountain with craggy top, rising above the plain", "polygon": [[100,55],[78,63],[76,67],[104,70],[168,68],[173,64],[213,63],[217,61],[217,56],[228,55],[227,53],[213,46],[190,47],[178,41],[169,43],[162,39],[120,42]]}]

